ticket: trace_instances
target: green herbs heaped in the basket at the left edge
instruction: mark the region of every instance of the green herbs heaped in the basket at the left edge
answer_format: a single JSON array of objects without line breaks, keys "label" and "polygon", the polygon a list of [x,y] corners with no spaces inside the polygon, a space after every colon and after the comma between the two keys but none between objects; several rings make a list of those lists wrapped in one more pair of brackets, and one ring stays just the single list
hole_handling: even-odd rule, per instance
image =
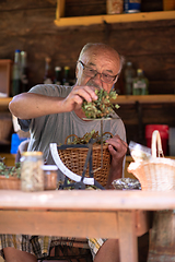
[{"label": "green herbs heaped in the basket at the left edge", "polygon": [[21,177],[21,165],[20,165],[20,163],[16,163],[15,166],[13,166],[13,167],[8,167],[3,163],[3,158],[0,157],[0,176],[4,176],[7,178],[9,178],[9,177],[20,178]]}]

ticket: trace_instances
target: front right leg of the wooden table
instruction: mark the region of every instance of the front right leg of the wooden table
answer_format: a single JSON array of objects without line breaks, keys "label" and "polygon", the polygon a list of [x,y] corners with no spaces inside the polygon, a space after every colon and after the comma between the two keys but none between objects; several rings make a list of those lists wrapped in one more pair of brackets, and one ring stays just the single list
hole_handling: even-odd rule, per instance
[{"label": "front right leg of the wooden table", "polygon": [[138,262],[135,211],[118,212],[120,262]]}]

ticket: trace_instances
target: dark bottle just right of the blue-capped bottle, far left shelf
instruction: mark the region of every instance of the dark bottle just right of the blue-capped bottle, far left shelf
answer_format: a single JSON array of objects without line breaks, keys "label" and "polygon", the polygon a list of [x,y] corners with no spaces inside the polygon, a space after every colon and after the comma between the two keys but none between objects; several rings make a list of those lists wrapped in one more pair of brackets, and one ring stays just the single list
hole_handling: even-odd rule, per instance
[{"label": "dark bottle just right of the blue-capped bottle, far left shelf", "polygon": [[27,53],[21,51],[21,92],[28,91]]}]

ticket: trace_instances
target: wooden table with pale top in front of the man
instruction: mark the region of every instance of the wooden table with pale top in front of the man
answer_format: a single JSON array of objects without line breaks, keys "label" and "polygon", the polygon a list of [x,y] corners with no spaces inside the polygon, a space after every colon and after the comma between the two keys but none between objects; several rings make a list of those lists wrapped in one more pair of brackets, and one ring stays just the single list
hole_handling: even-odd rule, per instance
[{"label": "wooden table with pale top in front of the man", "polygon": [[0,233],[119,238],[121,262],[137,262],[149,212],[175,209],[175,192],[0,190]]}]

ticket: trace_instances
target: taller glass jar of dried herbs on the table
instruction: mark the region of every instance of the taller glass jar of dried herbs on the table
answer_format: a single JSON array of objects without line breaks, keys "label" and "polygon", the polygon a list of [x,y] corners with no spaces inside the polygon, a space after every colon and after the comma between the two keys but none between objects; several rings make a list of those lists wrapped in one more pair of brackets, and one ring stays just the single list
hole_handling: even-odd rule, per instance
[{"label": "taller glass jar of dried herbs on the table", "polygon": [[21,189],[23,191],[44,190],[44,165],[42,152],[24,152],[21,157]]}]

